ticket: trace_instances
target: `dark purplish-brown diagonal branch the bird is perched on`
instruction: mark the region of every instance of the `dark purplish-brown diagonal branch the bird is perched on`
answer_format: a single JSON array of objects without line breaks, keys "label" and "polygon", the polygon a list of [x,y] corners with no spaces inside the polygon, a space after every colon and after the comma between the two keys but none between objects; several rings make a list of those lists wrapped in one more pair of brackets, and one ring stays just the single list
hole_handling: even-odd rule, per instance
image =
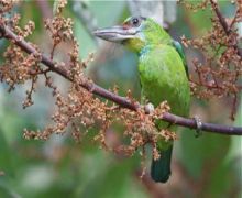
[{"label": "dark purplish-brown diagonal branch the bird is perched on", "polygon": [[[64,78],[73,81],[66,68],[58,66],[57,63],[53,62],[46,55],[40,54],[40,52],[37,52],[36,48],[34,48],[26,41],[20,38],[4,24],[0,24],[0,33],[1,33],[0,37],[4,37],[9,41],[12,41],[15,45],[21,47],[28,54],[34,54],[37,56],[41,55],[41,62],[45,66],[47,66],[52,72],[55,72],[58,75],[63,76]],[[128,108],[133,111],[138,111],[140,108],[142,108],[142,106],[139,102],[132,102],[125,97],[121,97],[111,91],[108,91],[107,89],[99,87],[98,85],[94,82],[85,81],[80,86],[97,96],[100,96],[102,98],[106,98],[108,100],[111,100],[118,103],[120,107]],[[178,125],[187,127],[190,129],[198,129],[197,123],[194,119],[178,117],[178,116],[175,116],[168,112],[164,113],[161,119],[173,124],[178,124]],[[242,128],[240,127],[228,127],[228,125],[213,124],[213,123],[201,123],[200,130],[206,131],[206,132],[228,134],[228,135],[242,135]]]}]

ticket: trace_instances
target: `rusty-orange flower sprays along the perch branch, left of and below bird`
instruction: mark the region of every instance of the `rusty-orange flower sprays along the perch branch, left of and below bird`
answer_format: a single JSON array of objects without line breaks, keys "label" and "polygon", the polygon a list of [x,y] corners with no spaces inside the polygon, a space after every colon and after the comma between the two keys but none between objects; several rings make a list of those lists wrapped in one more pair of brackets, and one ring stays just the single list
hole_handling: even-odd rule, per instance
[{"label": "rusty-orange flower sprays along the perch branch, left of and below bird", "polygon": [[[56,15],[52,20],[45,21],[45,29],[50,32],[53,41],[51,59],[55,59],[55,51],[59,44],[68,43],[72,45],[72,50],[67,54],[68,63],[56,63],[56,67],[65,68],[68,79],[72,79],[66,95],[61,94],[58,87],[54,85],[54,79],[50,75],[53,70],[46,69],[41,65],[42,57],[40,54],[28,55],[19,46],[14,45],[14,41],[11,41],[10,46],[7,48],[4,53],[6,61],[0,67],[1,80],[9,85],[9,90],[13,90],[16,84],[24,84],[31,80],[31,88],[26,91],[26,99],[23,102],[24,108],[33,105],[32,94],[35,91],[40,75],[45,77],[45,86],[53,90],[57,109],[52,116],[54,124],[46,127],[42,131],[24,129],[24,138],[47,140],[54,133],[64,134],[70,131],[76,141],[81,141],[89,129],[98,125],[99,133],[94,138],[94,141],[100,142],[102,147],[116,152],[122,147],[124,154],[132,155],[138,148],[151,143],[154,145],[154,157],[158,158],[156,142],[161,139],[167,141],[175,139],[173,132],[158,131],[155,125],[155,120],[169,110],[167,102],[161,103],[152,113],[146,114],[142,108],[136,112],[119,108],[116,103],[95,97],[91,90],[84,89],[81,87],[84,82],[91,84],[91,80],[85,76],[84,72],[94,59],[94,54],[90,54],[87,59],[79,59],[79,46],[73,33],[73,21],[69,18],[62,16],[65,4],[65,2],[58,3]],[[19,35],[19,40],[23,40],[32,34],[34,23],[30,22],[24,29],[21,29],[18,26],[19,19],[19,15],[14,15],[11,19],[1,19],[1,23],[7,25],[9,21],[12,21],[14,25],[10,25],[10,28]],[[34,48],[38,52],[37,46],[34,46]],[[128,91],[127,98],[134,101],[130,91]],[[124,125],[123,135],[130,139],[129,145],[121,144],[118,147],[109,147],[107,145],[106,133],[114,123]]]}]

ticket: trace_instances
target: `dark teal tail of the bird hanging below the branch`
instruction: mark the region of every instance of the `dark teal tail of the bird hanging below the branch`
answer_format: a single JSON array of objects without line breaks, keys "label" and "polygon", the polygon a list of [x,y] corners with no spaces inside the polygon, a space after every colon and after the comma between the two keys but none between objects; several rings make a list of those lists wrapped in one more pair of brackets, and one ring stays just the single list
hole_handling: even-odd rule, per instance
[{"label": "dark teal tail of the bird hanging below the branch", "polygon": [[156,183],[166,183],[170,175],[170,160],[173,145],[166,151],[162,151],[161,157],[157,161],[152,161],[151,176]]}]

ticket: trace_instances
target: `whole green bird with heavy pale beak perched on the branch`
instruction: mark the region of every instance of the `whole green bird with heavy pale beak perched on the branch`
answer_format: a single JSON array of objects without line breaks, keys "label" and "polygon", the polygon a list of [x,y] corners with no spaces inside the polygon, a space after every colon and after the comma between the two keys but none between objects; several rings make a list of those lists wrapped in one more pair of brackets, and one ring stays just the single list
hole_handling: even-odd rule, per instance
[{"label": "whole green bird with heavy pale beak perched on the branch", "polygon": [[[121,43],[139,55],[139,75],[142,87],[142,101],[157,107],[167,100],[172,113],[189,114],[190,89],[187,65],[182,45],[154,20],[131,16],[122,25],[101,29],[94,34],[109,42]],[[169,128],[164,121],[158,129]],[[170,127],[176,131],[176,127]],[[170,129],[169,128],[169,129]],[[151,176],[153,180],[166,183],[170,176],[173,141],[158,140],[160,160],[153,160]]]}]

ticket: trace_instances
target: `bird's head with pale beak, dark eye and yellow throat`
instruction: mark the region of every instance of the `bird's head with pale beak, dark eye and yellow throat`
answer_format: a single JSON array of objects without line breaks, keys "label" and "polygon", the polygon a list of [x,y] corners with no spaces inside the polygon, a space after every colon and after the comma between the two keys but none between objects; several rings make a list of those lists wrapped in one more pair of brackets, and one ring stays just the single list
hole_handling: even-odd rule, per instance
[{"label": "bird's head with pale beak, dark eye and yellow throat", "polygon": [[170,36],[158,23],[143,16],[128,18],[122,25],[100,29],[94,34],[109,42],[121,43],[138,53],[146,45],[172,42]]}]

